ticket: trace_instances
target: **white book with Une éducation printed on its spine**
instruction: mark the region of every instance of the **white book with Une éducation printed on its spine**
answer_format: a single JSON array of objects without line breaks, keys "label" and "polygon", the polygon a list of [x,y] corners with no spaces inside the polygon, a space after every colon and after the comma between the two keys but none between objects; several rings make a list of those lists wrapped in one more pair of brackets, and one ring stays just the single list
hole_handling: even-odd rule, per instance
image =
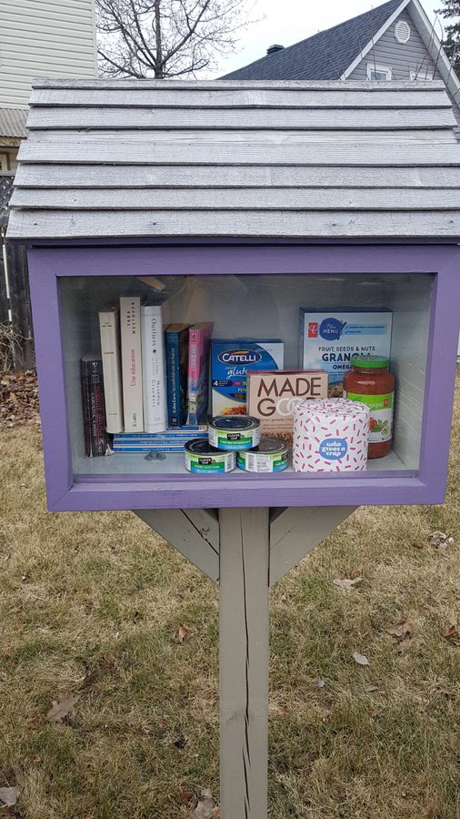
[{"label": "white book with Une \u00e9ducation printed on its spine", "polygon": [[120,329],[125,432],[143,432],[141,300],[138,296],[120,298]]}]

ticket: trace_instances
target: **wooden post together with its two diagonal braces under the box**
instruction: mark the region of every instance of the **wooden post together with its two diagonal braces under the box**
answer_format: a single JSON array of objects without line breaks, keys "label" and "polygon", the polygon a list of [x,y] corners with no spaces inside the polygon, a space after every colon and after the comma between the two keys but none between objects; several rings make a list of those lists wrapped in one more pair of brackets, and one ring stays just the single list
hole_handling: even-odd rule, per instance
[{"label": "wooden post together with its two diagonal braces under the box", "polygon": [[219,583],[221,819],[266,819],[269,587],[354,507],[136,514]]}]

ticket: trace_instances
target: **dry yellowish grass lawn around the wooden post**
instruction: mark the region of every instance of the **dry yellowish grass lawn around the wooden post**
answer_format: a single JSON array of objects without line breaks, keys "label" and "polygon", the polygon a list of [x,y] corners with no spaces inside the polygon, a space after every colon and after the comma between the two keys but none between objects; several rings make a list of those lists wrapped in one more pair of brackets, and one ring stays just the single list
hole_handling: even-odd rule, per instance
[{"label": "dry yellowish grass lawn around the wooden post", "polygon": [[[272,592],[271,819],[460,817],[460,647],[443,636],[460,627],[459,403],[445,506],[357,511]],[[0,431],[0,457],[9,815],[191,815],[192,794],[218,794],[213,584],[130,512],[49,514],[37,430]],[[428,545],[435,530],[454,544]]]}]

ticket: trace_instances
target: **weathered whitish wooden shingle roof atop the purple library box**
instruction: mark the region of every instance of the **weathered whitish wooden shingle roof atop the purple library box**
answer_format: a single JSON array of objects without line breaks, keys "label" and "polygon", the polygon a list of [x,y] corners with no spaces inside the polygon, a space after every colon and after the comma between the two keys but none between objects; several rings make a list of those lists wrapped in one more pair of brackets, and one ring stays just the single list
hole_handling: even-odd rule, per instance
[{"label": "weathered whitish wooden shingle roof atop the purple library box", "polygon": [[442,83],[35,82],[9,236],[455,238]]}]

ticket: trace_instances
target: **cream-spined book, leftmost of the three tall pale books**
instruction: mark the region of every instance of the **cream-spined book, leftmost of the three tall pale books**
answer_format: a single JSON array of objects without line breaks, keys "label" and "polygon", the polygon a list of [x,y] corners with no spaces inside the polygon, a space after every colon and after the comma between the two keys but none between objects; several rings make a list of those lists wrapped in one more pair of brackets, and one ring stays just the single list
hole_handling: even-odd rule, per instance
[{"label": "cream-spined book, leftmost of the three tall pale books", "polygon": [[99,312],[107,432],[123,432],[122,373],[118,310]]}]

